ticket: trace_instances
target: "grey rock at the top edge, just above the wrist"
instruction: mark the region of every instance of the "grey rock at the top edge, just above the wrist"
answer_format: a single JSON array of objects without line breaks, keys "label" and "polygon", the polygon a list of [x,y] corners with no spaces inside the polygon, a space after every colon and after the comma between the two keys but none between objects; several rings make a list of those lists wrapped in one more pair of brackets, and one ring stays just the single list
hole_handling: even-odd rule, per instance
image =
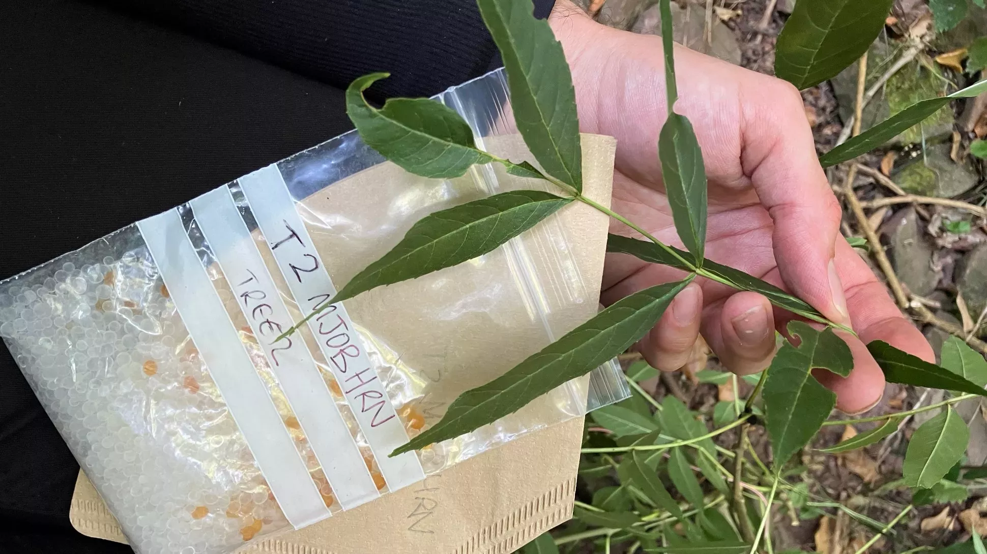
[{"label": "grey rock at the top edge, just above the wrist", "polygon": [[[707,44],[703,39],[703,32],[706,30],[706,10],[702,6],[689,4],[687,8],[680,8],[678,4],[672,2],[671,12],[673,38],[676,42],[740,65],[740,46],[737,44],[736,36],[722,24],[719,18],[713,18],[713,36],[711,43]],[[658,6],[654,5],[646,9],[638,17],[632,31],[641,35],[661,35],[661,14]]]}]

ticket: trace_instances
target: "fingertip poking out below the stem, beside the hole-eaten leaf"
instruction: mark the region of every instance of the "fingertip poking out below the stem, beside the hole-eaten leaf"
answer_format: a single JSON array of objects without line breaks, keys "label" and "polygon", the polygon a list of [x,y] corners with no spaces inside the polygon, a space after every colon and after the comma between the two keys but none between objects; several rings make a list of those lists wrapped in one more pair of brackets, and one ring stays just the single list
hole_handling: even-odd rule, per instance
[{"label": "fingertip poking out below the stem, beside the hole-eaten leaf", "polygon": [[884,373],[880,371],[867,346],[845,331],[836,334],[846,341],[854,357],[854,369],[843,378],[827,370],[812,370],[812,377],[836,393],[836,408],[847,414],[866,412],[877,405],[884,394]]}]

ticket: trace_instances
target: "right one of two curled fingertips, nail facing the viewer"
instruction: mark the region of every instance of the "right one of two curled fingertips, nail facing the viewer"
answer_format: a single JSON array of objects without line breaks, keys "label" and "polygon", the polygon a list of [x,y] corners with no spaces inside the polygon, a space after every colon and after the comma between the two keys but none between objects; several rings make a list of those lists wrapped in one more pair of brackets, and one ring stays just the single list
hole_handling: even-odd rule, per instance
[{"label": "right one of two curled fingertips, nail facing the viewer", "polygon": [[768,299],[740,292],[708,307],[704,315],[703,336],[726,369],[745,376],[771,365],[775,320]]}]

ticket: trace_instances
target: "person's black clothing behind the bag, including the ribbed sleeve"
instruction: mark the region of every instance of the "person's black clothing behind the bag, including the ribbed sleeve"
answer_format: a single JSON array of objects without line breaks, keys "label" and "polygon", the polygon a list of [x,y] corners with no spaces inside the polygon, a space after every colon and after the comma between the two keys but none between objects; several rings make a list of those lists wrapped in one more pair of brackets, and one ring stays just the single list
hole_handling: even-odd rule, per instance
[{"label": "person's black clothing behind the bag, including the ribbed sleeve", "polygon": [[[431,95],[494,53],[472,0],[4,0],[0,279],[348,130],[357,75]],[[0,347],[0,554],[129,551],[71,528],[77,471]]]}]

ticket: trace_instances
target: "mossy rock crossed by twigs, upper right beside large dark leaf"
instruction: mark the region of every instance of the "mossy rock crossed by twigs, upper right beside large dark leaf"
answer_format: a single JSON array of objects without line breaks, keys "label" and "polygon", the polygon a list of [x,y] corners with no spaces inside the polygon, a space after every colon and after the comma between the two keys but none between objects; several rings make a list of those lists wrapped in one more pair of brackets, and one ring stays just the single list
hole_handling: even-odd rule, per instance
[{"label": "mossy rock crossed by twigs, upper right beside large dark leaf", "polygon": [[[899,55],[900,48],[887,44],[878,38],[871,45],[868,53],[867,86],[870,88],[880,77],[879,69],[893,63]],[[939,69],[936,69],[939,71]],[[840,118],[848,121],[854,113],[857,102],[857,64],[851,64],[830,80],[837,104],[840,106]],[[863,129],[869,129],[891,115],[901,111],[918,101],[936,98],[944,92],[946,81],[942,75],[913,61],[902,67],[887,80],[881,92],[864,107]],[[952,131],[952,110],[949,105],[932,114],[922,123],[902,132],[891,140],[892,143],[911,144],[920,142],[923,136],[928,140],[936,136],[947,135]]]}]

